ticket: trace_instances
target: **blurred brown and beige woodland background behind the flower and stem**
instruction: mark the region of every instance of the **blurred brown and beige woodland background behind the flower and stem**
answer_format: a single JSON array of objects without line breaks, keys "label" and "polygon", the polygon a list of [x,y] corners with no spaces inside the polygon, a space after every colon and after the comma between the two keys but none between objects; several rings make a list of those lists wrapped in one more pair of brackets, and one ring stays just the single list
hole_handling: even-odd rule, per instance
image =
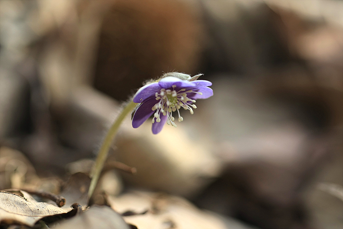
[{"label": "blurred brown and beige woodland background behind the flower and stem", "polygon": [[343,228],[343,1],[1,0],[0,29],[0,189],[89,172],[142,82],[203,73],[214,96],[177,128],[128,117],[108,163],[137,175],[103,192],[181,196],[227,229]]}]

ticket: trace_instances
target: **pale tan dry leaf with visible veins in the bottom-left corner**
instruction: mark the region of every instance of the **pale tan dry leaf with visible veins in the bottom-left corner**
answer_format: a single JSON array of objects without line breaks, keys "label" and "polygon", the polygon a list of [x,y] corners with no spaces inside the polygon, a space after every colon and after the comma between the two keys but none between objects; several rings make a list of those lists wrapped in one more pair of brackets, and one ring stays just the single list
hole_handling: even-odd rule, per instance
[{"label": "pale tan dry leaf with visible veins in the bottom-left corner", "polygon": [[13,193],[0,191],[0,223],[19,223],[33,227],[40,219],[67,213],[68,210],[44,202],[35,202]]}]

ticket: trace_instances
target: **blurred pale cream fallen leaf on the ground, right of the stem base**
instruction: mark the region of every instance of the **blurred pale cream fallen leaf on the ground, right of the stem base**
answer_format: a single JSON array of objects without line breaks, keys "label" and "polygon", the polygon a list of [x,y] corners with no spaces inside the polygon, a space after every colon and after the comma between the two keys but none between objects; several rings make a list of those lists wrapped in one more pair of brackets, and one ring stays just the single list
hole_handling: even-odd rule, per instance
[{"label": "blurred pale cream fallen leaf on the ground, right of the stem base", "polygon": [[[124,216],[138,229],[226,229],[218,216],[198,209],[186,199],[162,193],[130,191],[118,197],[108,196],[108,203],[120,213],[144,212]],[[249,227],[238,227],[237,229]]]}]

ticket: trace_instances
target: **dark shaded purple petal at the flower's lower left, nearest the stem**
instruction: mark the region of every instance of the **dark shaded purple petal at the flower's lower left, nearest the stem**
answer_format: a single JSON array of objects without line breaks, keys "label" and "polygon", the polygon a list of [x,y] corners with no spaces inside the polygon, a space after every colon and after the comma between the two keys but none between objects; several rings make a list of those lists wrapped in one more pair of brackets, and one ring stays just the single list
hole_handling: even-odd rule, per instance
[{"label": "dark shaded purple petal at the flower's lower left, nearest the stem", "polygon": [[157,103],[155,97],[147,99],[136,110],[132,118],[132,127],[137,128],[141,126],[154,113],[152,107]]}]

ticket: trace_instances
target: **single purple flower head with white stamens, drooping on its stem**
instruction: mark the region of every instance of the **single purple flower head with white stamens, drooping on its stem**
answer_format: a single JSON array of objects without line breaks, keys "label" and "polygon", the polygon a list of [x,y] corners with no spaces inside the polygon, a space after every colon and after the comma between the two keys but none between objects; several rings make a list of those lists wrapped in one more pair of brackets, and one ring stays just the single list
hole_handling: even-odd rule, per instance
[{"label": "single purple flower head with white stamens, drooping on its stem", "polygon": [[[175,77],[176,76],[176,77]],[[133,111],[132,127],[141,126],[152,114],[152,133],[159,133],[164,124],[176,127],[172,112],[177,112],[178,121],[182,122],[179,109],[182,107],[193,114],[197,99],[213,96],[213,90],[207,80],[195,80],[201,75],[189,76],[182,73],[168,73],[158,82],[149,83],[140,88],[133,102],[139,103]]]}]

